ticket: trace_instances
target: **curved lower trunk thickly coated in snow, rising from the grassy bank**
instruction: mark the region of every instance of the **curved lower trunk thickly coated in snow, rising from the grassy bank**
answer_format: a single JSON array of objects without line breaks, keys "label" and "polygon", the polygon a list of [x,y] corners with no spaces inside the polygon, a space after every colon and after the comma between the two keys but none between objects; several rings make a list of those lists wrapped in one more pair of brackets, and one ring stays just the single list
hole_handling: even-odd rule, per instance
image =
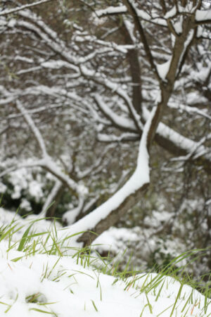
[{"label": "curved lower trunk thickly coated in snow, rising from the grassy bank", "polygon": [[[149,116],[146,125],[143,129],[143,135],[139,144],[139,154],[136,163],[136,170],[129,180],[104,204],[99,206],[94,211],[91,211],[87,216],[84,216],[77,223],[62,230],[60,235],[67,237],[76,232],[84,232],[77,239],[78,242],[84,244],[90,244],[96,235],[91,234],[88,230],[101,234],[104,230],[110,227],[112,223],[115,223],[116,219],[120,218],[130,208],[131,203],[136,201],[140,195],[140,191],[146,188],[150,181],[150,169],[149,169],[149,156],[148,156],[148,137],[151,131],[151,125],[153,124],[153,118],[157,107],[153,108],[151,115]],[[131,201],[132,200],[132,201]]]}]

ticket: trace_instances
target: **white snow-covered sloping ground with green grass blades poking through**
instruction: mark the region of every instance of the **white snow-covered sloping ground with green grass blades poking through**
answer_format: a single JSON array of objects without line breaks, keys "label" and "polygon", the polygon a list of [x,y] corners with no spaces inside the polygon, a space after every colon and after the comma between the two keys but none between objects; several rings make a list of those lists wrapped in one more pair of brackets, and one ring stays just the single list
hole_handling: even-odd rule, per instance
[{"label": "white snow-covered sloping ground with green grass blades poking through", "polygon": [[[0,227],[13,216],[0,209]],[[57,254],[44,247],[36,251],[33,241],[17,251],[20,241],[13,240],[21,239],[29,220],[18,217],[18,222],[25,225],[21,234],[0,237],[2,317],[211,316],[209,299],[173,278],[154,273],[118,277],[112,268],[108,275],[91,265],[97,264],[92,257],[65,256],[59,246]],[[49,223],[37,222],[39,230],[49,230]]]}]

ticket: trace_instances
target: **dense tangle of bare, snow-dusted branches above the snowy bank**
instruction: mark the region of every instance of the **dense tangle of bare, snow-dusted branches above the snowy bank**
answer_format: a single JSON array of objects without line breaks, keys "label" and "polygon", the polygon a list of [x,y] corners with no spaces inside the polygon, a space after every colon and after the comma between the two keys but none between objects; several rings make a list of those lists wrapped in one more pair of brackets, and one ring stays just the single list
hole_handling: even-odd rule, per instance
[{"label": "dense tangle of bare, snow-dusted branches above the snowy bank", "polygon": [[86,231],[83,244],[87,230],[143,226],[155,203],[172,216],[153,235],[207,247],[210,4],[111,2],[5,1],[1,178],[51,173],[41,215],[65,195],[67,235]]}]

